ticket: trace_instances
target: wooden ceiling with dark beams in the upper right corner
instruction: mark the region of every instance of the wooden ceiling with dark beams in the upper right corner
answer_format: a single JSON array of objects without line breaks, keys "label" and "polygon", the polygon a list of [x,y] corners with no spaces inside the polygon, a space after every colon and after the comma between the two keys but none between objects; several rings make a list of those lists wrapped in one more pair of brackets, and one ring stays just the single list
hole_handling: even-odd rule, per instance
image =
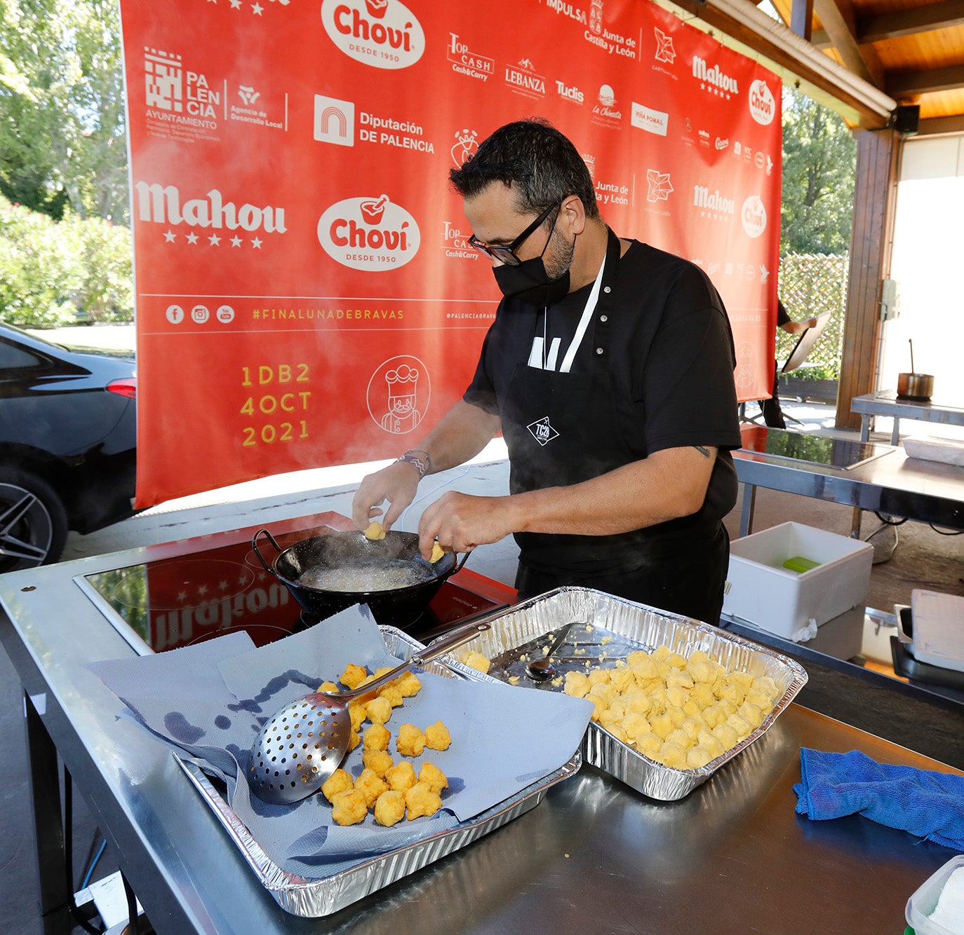
[{"label": "wooden ceiling with dark beams in the upper right corner", "polygon": [[920,132],[964,130],[964,0],[771,2],[798,36],[898,105],[920,107]]}]

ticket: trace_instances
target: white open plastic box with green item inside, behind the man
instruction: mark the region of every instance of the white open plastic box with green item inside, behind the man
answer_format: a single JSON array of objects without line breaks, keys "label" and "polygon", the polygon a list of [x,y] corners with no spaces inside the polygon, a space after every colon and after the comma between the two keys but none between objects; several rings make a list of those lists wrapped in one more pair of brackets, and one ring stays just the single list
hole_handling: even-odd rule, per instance
[{"label": "white open plastic box with green item inside, behind the man", "polygon": [[[783,567],[787,558],[818,561],[810,571]],[[782,523],[730,543],[723,612],[762,630],[802,641],[817,627],[862,604],[870,588],[873,546],[801,523]]]}]

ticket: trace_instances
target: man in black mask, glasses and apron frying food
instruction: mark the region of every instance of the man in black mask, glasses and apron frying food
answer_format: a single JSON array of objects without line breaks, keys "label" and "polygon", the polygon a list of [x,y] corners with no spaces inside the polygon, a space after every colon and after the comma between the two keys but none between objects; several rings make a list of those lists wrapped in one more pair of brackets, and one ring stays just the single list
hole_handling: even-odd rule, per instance
[{"label": "man in black mask, glasses and apron frying food", "polygon": [[740,444],[733,337],[696,266],[621,240],[576,147],[534,119],[496,130],[450,179],[504,298],[469,388],[422,441],[362,480],[359,528],[389,528],[426,474],[502,432],[510,494],[449,491],[422,514],[429,558],[510,532],[521,597],[576,584],[717,623]]}]

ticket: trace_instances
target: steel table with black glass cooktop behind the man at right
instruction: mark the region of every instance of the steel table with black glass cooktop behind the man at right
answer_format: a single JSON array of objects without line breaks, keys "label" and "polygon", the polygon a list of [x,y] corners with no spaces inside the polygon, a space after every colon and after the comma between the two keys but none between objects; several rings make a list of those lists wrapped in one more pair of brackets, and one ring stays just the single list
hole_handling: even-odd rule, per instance
[{"label": "steel table with black glass cooktop behind the man at right", "polygon": [[[782,490],[855,507],[854,530],[859,533],[859,510],[906,517],[935,526],[964,529],[964,469],[937,461],[908,457],[901,448],[854,467],[840,468],[762,450],[761,433],[778,439],[799,436],[786,429],[743,427],[744,447],[733,453],[736,477],[745,484],[739,534],[752,532],[756,488]],[[847,444],[841,442],[841,444]]]}]

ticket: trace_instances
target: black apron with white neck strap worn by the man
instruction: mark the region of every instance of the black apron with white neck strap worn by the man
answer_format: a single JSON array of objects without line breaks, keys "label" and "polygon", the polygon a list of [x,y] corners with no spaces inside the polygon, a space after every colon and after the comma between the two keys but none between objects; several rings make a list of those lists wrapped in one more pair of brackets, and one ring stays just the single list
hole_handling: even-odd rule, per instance
[{"label": "black apron with white neck strap worn by the man", "polygon": [[[526,356],[499,397],[514,494],[570,486],[645,456],[630,450],[620,428],[608,365],[609,322],[619,314],[614,283],[620,251],[610,230],[602,288],[582,338],[590,347],[588,371],[540,370],[530,367]],[[522,597],[531,597],[577,584],[717,623],[729,562],[723,524],[693,520],[667,526],[615,535],[516,533],[516,586]]]}]

